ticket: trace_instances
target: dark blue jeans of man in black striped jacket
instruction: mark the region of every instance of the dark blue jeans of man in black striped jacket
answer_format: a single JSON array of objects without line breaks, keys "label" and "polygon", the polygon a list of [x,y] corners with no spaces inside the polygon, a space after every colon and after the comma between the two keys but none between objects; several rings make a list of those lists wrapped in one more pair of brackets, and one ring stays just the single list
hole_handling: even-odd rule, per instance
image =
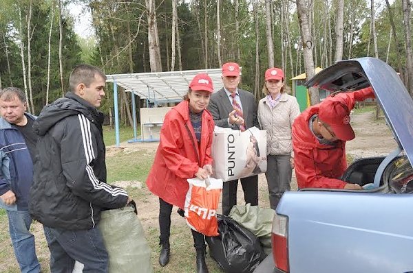
[{"label": "dark blue jeans of man in black striped jacket", "polygon": [[63,230],[44,226],[50,250],[50,271],[71,273],[75,261],[83,263],[83,273],[106,273],[108,255],[98,228]]}]

